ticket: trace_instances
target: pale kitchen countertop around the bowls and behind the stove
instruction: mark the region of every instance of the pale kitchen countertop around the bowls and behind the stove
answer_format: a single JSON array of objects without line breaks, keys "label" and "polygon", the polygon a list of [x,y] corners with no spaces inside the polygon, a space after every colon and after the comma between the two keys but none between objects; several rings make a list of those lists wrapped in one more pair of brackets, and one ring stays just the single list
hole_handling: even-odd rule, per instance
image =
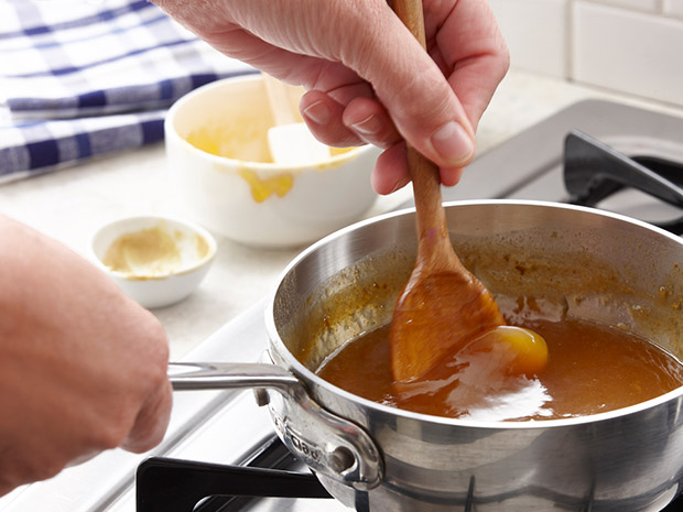
[{"label": "pale kitchen countertop around the bowls and behind the stove", "polygon": [[[500,85],[478,130],[483,153],[575,101],[619,100],[683,118],[683,109],[581,87],[529,73],[511,72]],[[115,218],[174,213],[163,144],[93,161],[0,186],[0,213],[88,254],[95,230]],[[153,313],[171,342],[172,359],[270,292],[302,248],[253,249],[217,237],[218,253],[199,288],[184,302]]]}]

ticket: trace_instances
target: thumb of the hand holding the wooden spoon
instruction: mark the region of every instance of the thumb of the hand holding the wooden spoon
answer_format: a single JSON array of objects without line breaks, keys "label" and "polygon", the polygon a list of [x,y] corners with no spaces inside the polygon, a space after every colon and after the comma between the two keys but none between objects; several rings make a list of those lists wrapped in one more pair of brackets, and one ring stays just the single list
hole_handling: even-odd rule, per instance
[{"label": "thumb of the hand holding the wooden spoon", "polygon": [[451,85],[386,3],[375,20],[380,26],[345,41],[344,64],[372,84],[411,145],[440,167],[464,166],[474,157],[474,129]]}]

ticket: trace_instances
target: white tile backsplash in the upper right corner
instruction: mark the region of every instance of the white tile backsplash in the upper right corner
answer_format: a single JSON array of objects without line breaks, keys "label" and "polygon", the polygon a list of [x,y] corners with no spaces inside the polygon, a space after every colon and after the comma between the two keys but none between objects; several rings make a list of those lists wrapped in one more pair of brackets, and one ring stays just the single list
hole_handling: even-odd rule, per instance
[{"label": "white tile backsplash in the upper right corner", "polygon": [[683,0],[489,0],[513,67],[683,105]]}]

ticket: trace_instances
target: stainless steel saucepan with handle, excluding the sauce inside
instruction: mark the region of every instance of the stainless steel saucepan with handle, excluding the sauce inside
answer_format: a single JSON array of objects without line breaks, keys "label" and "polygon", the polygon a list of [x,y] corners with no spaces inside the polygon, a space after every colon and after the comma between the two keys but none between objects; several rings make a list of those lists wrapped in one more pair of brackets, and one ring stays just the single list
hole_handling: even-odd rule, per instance
[{"label": "stainless steel saucepan with handle, excluding the sauce inside", "polygon": [[[534,297],[559,319],[619,325],[683,358],[681,238],[550,203],[446,211],[458,254],[501,304]],[[334,350],[391,319],[414,239],[406,210],[312,246],[270,298],[269,361],[172,366],[174,388],[257,390],[284,444],[358,511],[650,511],[679,493],[683,388],[592,416],[506,423],[401,411],[319,379]]]}]

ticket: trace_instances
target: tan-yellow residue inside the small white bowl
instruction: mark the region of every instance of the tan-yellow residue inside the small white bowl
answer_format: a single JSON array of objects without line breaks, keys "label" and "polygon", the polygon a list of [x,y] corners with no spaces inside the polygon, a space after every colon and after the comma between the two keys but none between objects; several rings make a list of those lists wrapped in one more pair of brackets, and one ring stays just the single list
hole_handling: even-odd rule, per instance
[{"label": "tan-yellow residue inside the small white bowl", "polygon": [[[209,247],[204,237],[192,235],[192,250],[183,251],[189,240],[186,233],[173,233],[161,226],[124,233],[107,249],[102,263],[115,272],[129,274],[137,279],[153,279],[169,275],[206,258]],[[188,264],[189,263],[189,264]]]}]

